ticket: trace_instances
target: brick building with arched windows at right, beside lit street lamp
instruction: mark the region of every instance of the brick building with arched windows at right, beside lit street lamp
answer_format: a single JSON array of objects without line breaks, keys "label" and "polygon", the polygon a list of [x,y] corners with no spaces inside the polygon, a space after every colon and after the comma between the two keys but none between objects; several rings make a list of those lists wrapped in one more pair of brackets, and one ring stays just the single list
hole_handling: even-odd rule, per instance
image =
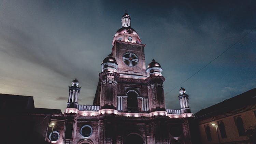
[{"label": "brick building with arched windows at right, beside lit street lamp", "polygon": [[256,88],[200,110],[195,119],[200,143],[244,144],[246,129],[256,126]]}]

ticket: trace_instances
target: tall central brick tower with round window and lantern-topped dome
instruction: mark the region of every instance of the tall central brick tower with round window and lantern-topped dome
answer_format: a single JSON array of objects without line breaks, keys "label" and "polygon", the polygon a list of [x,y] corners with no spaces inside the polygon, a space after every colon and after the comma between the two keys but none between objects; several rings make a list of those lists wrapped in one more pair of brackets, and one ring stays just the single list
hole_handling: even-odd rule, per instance
[{"label": "tall central brick tower with round window and lantern-topped dome", "polygon": [[115,33],[112,44],[111,55],[118,63],[120,77],[145,79],[145,44],[141,44],[138,33],[131,28],[129,14],[122,16],[122,28]]}]

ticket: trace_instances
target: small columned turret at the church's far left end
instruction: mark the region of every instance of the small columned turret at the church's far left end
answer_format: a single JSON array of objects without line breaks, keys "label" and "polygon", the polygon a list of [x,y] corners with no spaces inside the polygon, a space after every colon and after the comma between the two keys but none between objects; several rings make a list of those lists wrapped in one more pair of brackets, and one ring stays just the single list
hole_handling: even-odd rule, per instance
[{"label": "small columned turret at the church's far left end", "polygon": [[72,81],[72,86],[69,87],[69,99],[67,102],[67,108],[78,108],[78,98],[80,93],[80,88],[78,87],[79,82],[75,79]]}]

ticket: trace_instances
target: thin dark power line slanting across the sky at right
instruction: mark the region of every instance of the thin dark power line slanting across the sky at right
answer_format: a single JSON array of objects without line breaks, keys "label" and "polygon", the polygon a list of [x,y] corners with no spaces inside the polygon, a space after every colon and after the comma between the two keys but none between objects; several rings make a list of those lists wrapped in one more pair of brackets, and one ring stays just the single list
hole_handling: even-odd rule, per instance
[{"label": "thin dark power line slanting across the sky at right", "polygon": [[[238,41],[236,41],[234,44],[232,44],[231,46],[229,46],[224,52],[222,52],[220,55],[218,55],[216,58],[214,58],[212,61],[210,61],[208,64],[206,64],[204,67],[202,67],[200,70],[198,70],[196,73],[194,73],[193,75],[191,75],[190,77],[188,77],[185,81],[183,81],[182,83],[180,83],[179,85],[177,85],[176,87],[174,87],[172,90],[174,90],[175,88],[177,88],[178,86],[180,86],[181,84],[185,83],[189,78],[193,77],[194,75],[196,75],[197,73],[199,73],[202,69],[204,69],[205,67],[207,67],[210,63],[212,63],[214,60],[216,60],[217,58],[219,58],[221,55],[223,55],[225,52],[227,52],[231,47],[233,47],[234,45],[236,45],[238,42],[240,42],[243,38],[246,37],[246,35],[248,35],[249,33],[251,33],[255,28],[253,28],[251,31],[247,32],[242,38],[240,38]],[[165,95],[167,95],[168,93],[170,93],[172,90],[168,91],[167,93],[165,93]]]}]

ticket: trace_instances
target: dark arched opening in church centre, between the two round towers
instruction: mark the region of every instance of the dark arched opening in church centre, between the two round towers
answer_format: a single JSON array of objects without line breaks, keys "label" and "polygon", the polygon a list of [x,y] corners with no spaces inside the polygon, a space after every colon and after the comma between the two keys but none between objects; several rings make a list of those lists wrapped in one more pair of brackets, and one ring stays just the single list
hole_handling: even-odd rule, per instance
[{"label": "dark arched opening in church centre, between the two round towers", "polygon": [[138,94],[131,90],[127,93],[127,107],[128,110],[138,111]]}]

